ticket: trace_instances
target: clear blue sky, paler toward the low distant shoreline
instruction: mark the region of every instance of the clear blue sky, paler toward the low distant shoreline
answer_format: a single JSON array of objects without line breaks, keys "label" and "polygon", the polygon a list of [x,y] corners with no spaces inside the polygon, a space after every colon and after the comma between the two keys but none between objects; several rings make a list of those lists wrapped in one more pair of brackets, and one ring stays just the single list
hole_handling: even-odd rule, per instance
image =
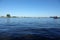
[{"label": "clear blue sky, paler toward the low distant shoreline", "polygon": [[0,0],[0,16],[60,16],[60,0]]}]

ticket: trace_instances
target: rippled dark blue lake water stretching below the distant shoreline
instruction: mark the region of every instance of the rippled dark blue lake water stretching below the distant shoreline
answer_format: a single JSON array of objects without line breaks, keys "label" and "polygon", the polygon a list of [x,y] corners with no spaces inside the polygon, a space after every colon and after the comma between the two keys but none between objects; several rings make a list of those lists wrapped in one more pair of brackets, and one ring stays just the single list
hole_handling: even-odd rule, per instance
[{"label": "rippled dark blue lake water stretching below the distant shoreline", "polygon": [[59,39],[60,19],[0,18],[0,39],[7,37],[23,37],[26,35],[38,35],[40,38]]}]

